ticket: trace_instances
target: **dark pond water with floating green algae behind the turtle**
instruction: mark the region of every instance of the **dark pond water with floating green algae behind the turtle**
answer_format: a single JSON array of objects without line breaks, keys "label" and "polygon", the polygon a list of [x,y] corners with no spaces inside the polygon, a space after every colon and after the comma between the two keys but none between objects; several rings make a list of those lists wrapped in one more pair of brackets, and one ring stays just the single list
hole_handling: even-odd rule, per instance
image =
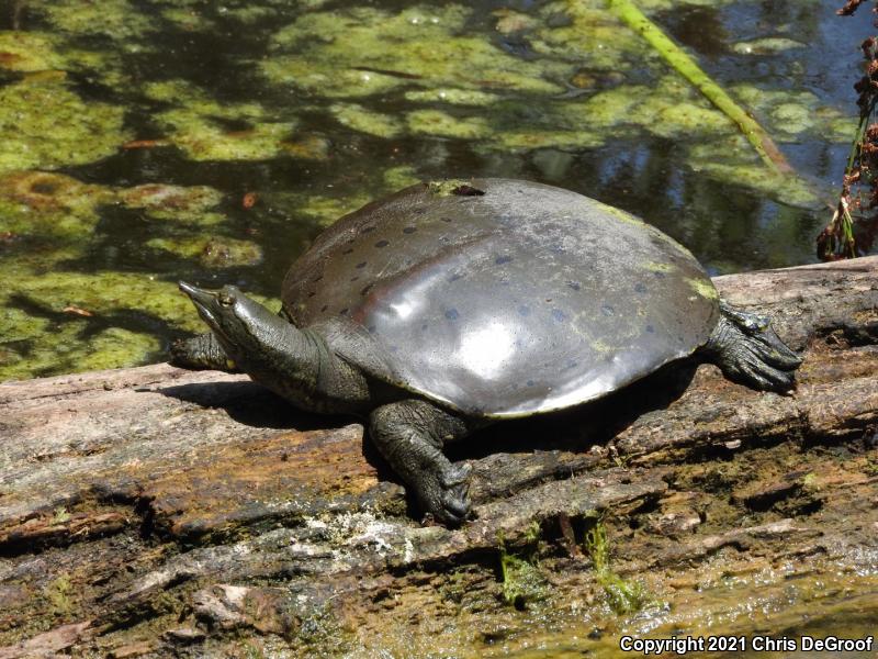
[{"label": "dark pond water with floating green algae behind the turtle", "polygon": [[712,273],[813,260],[868,16],[640,7],[780,144],[778,179],[603,0],[0,2],[0,380],[164,358],[176,289],[278,294],[319,231],[420,179],[644,216]]}]

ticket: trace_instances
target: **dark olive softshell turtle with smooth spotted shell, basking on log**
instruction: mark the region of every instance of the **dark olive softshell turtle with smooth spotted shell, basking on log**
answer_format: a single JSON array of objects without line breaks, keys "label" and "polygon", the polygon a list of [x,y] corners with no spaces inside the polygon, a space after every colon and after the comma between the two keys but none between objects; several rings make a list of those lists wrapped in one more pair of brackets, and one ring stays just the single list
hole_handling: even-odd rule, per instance
[{"label": "dark olive softshell turtle with smooth spotted shell, basking on log", "polygon": [[181,282],[211,333],[172,361],[240,370],[309,411],[369,417],[424,511],[468,514],[442,446],[494,420],[578,405],[698,354],[792,387],[767,319],[719,299],[689,252],[633,215],[540,183],[423,183],[346,215],[290,268],[273,314]]}]

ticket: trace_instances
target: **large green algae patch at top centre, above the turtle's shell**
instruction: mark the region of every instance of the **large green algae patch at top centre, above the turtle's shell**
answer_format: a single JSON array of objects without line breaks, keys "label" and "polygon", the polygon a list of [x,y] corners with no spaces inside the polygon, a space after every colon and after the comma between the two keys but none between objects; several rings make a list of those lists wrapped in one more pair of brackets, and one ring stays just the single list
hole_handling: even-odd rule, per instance
[{"label": "large green algae patch at top centre, above the turtle's shell", "polygon": [[326,98],[412,87],[562,91],[545,74],[562,74],[567,65],[527,62],[484,36],[465,34],[469,15],[460,4],[415,7],[395,14],[372,8],[306,14],[274,35],[279,55],[261,68],[274,83]]}]

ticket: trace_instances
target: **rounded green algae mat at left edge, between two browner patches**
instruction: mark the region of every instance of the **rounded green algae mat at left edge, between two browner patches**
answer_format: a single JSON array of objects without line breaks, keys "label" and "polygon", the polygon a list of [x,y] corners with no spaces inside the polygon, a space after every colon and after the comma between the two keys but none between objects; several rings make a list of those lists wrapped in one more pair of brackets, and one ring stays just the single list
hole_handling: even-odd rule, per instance
[{"label": "rounded green algae mat at left edge, between two browner patches", "polygon": [[64,80],[0,88],[0,172],[91,163],[130,138],[123,108],[86,102]]}]

